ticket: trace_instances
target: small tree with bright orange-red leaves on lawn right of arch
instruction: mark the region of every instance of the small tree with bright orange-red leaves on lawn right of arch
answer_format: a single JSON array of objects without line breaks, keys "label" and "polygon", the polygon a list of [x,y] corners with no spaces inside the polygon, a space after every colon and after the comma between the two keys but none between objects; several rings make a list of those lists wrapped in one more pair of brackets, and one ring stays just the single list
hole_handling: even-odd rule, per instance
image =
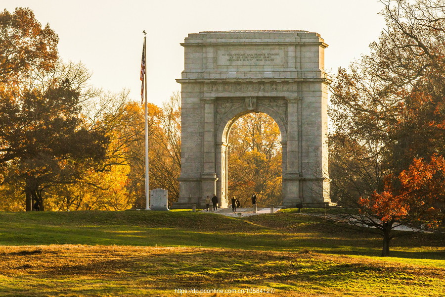
[{"label": "small tree with bright orange-red leaves on lawn right of arch", "polygon": [[415,231],[437,227],[444,219],[445,158],[415,158],[397,178],[385,177],[383,191],[360,198],[357,221],[373,225],[383,233],[382,256],[389,255],[393,228],[403,226]]}]

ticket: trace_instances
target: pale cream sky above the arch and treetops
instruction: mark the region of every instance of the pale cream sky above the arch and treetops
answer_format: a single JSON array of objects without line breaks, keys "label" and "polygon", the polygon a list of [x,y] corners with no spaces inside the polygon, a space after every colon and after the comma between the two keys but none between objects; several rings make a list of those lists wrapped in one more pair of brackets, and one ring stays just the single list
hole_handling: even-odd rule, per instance
[{"label": "pale cream sky above the arch and treetops", "polygon": [[189,33],[214,30],[307,30],[329,47],[325,69],[335,73],[369,51],[384,29],[378,0],[0,0],[0,8],[31,8],[59,36],[64,61],[81,61],[90,83],[130,91],[140,100],[140,59],[147,32],[147,97],[161,105],[180,91],[179,45]]}]

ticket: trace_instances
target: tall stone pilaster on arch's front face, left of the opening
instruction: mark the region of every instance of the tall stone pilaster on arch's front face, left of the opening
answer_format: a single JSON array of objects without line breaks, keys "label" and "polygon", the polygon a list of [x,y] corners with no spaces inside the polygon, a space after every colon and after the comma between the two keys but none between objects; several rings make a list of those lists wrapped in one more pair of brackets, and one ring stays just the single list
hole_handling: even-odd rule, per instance
[{"label": "tall stone pilaster on arch's front face, left of the opening", "polygon": [[[216,194],[217,176],[215,172],[215,98],[203,99],[204,108],[204,164],[201,174],[201,201],[205,205],[207,195]],[[217,195],[218,196],[218,195]]]}]

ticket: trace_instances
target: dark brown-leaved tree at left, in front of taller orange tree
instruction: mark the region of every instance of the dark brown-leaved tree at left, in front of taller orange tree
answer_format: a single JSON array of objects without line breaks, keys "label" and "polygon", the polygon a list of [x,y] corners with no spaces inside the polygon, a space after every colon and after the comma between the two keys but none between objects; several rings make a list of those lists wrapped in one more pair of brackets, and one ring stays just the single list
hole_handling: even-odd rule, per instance
[{"label": "dark brown-leaved tree at left, in front of taller orange tree", "polygon": [[85,170],[84,162],[93,166],[105,154],[105,133],[85,123],[79,103],[82,95],[70,74],[62,71],[53,77],[51,73],[42,87],[25,89],[0,102],[0,122],[6,127],[0,138],[14,156],[8,163],[13,169],[9,178],[24,181],[28,210],[31,199],[43,210],[42,194],[48,187],[75,183]]}]

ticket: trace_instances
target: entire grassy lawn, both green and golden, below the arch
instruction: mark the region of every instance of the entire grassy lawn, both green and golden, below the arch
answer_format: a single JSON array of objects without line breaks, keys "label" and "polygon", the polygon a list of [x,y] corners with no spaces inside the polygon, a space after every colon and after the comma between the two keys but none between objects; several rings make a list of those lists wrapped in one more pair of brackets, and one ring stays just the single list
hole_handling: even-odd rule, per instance
[{"label": "entire grassy lawn, both green and golden, below the arch", "polygon": [[401,237],[381,258],[378,236],[292,210],[0,212],[0,296],[439,297],[444,242]]}]

